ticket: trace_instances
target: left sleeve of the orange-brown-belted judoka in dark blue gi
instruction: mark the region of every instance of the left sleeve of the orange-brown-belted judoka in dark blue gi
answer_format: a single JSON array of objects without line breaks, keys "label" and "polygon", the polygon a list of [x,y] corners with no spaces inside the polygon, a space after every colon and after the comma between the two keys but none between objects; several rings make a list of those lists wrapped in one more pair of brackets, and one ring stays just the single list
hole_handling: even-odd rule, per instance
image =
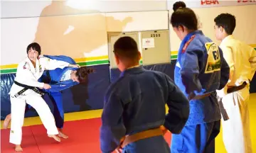
[{"label": "left sleeve of the orange-brown-belted judoka in dark blue gi", "polygon": [[100,128],[100,149],[102,152],[113,152],[119,146],[120,140],[126,133],[122,113],[121,99],[112,89],[105,96],[102,112],[102,126]]}]

